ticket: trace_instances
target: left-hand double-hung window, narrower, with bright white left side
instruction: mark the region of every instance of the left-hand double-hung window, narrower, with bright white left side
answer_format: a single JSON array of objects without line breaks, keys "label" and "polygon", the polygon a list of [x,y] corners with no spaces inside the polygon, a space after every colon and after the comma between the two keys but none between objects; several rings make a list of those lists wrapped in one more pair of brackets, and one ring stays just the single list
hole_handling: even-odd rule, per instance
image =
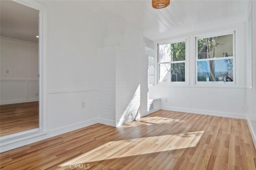
[{"label": "left-hand double-hung window, narrower, with bright white left side", "polygon": [[158,83],[185,82],[186,40],[158,44]]}]

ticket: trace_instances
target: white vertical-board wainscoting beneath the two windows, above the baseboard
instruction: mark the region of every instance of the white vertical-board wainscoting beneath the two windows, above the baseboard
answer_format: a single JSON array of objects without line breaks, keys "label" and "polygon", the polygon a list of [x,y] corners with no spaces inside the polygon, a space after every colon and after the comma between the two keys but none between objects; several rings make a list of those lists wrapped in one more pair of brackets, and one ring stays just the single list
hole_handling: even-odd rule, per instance
[{"label": "white vertical-board wainscoting beneath the two windows, above the baseboard", "polygon": [[150,86],[149,98],[161,98],[161,109],[246,119],[244,88]]}]

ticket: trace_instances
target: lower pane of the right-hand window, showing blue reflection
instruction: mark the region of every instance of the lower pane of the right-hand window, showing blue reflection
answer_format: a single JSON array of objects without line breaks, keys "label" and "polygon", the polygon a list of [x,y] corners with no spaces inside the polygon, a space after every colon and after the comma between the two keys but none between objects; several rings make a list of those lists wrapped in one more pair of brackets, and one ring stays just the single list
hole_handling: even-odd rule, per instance
[{"label": "lower pane of the right-hand window, showing blue reflection", "polygon": [[198,61],[198,82],[232,82],[233,81],[233,59]]}]

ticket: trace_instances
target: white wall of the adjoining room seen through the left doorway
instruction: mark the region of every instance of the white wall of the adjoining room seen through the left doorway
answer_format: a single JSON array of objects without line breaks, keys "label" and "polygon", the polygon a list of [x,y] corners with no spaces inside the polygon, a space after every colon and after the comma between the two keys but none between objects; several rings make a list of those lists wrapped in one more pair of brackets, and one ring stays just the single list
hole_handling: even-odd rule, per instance
[{"label": "white wall of the adjoining room seen through the left doorway", "polygon": [[0,41],[1,104],[38,101],[38,44],[8,37]]}]

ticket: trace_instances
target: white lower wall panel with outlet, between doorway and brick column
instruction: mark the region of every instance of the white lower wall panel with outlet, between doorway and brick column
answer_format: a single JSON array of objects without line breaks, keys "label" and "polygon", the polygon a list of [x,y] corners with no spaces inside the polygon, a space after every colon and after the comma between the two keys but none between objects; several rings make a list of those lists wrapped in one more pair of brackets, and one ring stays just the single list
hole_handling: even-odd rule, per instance
[{"label": "white lower wall panel with outlet, between doorway and brick column", "polygon": [[[82,102],[85,103],[82,106]],[[88,121],[98,123],[98,90],[49,90],[48,92],[48,130],[72,127],[86,127]],[[56,121],[58,120],[58,121]],[[70,131],[66,128],[63,133]]]}]

